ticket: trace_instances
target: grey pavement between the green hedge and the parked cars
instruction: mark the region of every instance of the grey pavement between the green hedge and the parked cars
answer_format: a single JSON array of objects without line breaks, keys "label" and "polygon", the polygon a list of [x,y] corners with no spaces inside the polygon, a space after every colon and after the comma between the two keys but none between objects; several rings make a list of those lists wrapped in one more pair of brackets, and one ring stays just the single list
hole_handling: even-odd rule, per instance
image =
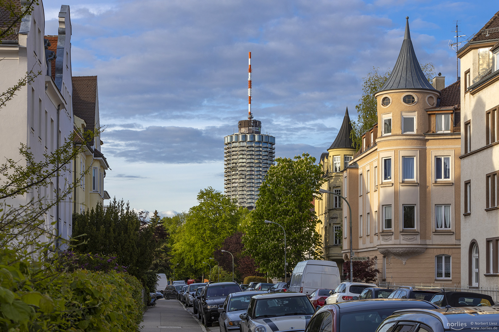
[{"label": "grey pavement between the green hedge and the parked cars", "polygon": [[142,332],[217,332],[219,326],[213,324],[211,328],[205,328],[194,316],[192,307],[187,310],[180,301],[164,300],[157,301],[155,307],[149,307],[144,313]]}]

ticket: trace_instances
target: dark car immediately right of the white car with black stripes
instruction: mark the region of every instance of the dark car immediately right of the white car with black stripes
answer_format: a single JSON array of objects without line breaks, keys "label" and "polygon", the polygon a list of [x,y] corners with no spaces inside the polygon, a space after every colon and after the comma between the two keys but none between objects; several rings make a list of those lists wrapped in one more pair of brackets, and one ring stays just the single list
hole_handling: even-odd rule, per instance
[{"label": "dark car immediately right of the white car with black stripes", "polygon": [[[413,299],[373,299],[328,304],[315,313],[305,332],[375,332],[385,318],[403,308],[431,310],[437,309],[437,306]],[[410,331],[401,330],[400,332]]]}]

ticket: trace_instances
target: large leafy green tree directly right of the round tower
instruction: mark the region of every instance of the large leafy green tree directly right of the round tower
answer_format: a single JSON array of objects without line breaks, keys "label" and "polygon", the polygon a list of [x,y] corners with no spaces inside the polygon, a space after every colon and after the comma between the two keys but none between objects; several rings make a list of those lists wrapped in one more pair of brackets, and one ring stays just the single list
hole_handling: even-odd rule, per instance
[{"label": "large leafy green tree directly right of the round tower", "polygon": [[[320,222],[312,202],[314,194],[319,193],[323,179],[315,158],[303,153],[301,156],[277,158],[271,166],[260,193],[250,221],[245,225],[243,243],[250,253],[258,271],[272,277],[284,274],[284,234],[274,224],[281,224],[286,231],[286,256],[290,267],[304,260],[307,255],[321,256],[321,238],[315,230]],[[287,272],[291,272],[288,268]]]}]

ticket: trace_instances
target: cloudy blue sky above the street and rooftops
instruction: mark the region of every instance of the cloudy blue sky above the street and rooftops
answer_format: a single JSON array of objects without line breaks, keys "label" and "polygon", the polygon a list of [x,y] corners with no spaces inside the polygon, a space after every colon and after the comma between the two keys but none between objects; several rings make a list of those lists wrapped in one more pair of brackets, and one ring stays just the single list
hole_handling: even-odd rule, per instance
[{"label": "cloudy blue sky above the street and rooftops", "polygon": [[[73,76],[98,77],[111,197],[161,216],[224,190],[224,136],[252,113],[276,157],[320,157],[369,71],[393,68],[406,16],[420,63],[456,81],[449,40],[473,36],[497,0],[44,0],[45,34],[70,6]],[[466,37],[465,37],[466,38]],[[454,38],[455,39],[455,38]]]}]

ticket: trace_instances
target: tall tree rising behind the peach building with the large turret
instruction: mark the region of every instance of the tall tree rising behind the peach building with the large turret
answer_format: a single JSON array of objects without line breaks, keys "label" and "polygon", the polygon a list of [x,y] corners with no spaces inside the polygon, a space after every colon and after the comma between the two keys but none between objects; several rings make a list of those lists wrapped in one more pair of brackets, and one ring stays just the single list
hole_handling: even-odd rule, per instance
[{"label": "tall tree rising behind the peach building with the large turret", "polygon": [[[431,62],[423,65],[420,64],[420,66],[426,78],[431,83],[431,78],[435,76],[435,66]],[[353,130],[350,132],[350,137],[357,150],[360,149],[362,135],[378,122],[377,101],[374,98],[374,94],[381,90],[389,77],[390,69],[382,73],[379,67],[373,67],[372,71],[367,73],[366,77],[362,78],[362,97],[359,99],[359,104],[355,106],[358,119],[357,121],[352,121]]]}]

